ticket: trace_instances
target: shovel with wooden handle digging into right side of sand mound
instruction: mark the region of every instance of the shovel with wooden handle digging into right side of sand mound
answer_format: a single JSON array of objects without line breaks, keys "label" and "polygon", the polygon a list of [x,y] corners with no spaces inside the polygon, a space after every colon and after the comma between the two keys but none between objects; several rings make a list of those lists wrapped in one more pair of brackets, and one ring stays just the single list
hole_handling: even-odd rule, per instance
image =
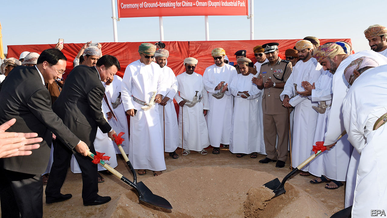
[{"label": "shovel with wooden handle digging into right side of sand mound", "polygon": [[[337,138],[336,142],[341,137],[343,137],[345,134],[347,134],[347,132],[344,130],[341,133],[341,135],[339,136],[339,138]],[[279,196],[281,194],[284,194],[286,192],[285,187],[284,187],[286,180],[288,180],[291,176],[293,176],[295,173],[297,173],[297,171],[302,169],[310,161],[315,159],[315,157],[319,156],[319,154],[321,154],[321,152],[322,151],[317,151],[317,154],[312,154],[310,157],[308,157],[308,159],[306,159],[304,162],[302,162],[300,165],[298,165],[294,170],[292,170],[288,175],[286,175],[283,178],[282,182],[279,182],[279,179],[275,178],[274,180],[271,180],[270,182],[265,183],[264,186],[269,188],[269,189],[271,189],[271,190],[273,190],[273,192],[274,192],[274,196],[271,199],[273,199],[274,197],[277,197],[277,196]]]}]

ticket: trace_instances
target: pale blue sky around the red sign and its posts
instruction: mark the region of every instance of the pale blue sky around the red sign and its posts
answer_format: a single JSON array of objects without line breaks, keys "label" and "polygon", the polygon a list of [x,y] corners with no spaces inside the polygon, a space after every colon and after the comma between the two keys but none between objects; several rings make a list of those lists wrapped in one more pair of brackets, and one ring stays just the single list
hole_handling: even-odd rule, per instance
[{"label": "pale blue sky around the red sign and its posts", "polygon": [[[110,0],[1,0],[3,49],[7,45],[113,42]],[[117,7],[117,5],[116,5]],[[351,38],[369,50],[363,31],[387,25],[384,0],[254,1],[254,39]],[[165,41],[205,40],[204,16],[163,17]],[[159,18],[122,18],[118,42],[159,41]],[[249,40],[246,16],[209,16],[210,40]]]}]

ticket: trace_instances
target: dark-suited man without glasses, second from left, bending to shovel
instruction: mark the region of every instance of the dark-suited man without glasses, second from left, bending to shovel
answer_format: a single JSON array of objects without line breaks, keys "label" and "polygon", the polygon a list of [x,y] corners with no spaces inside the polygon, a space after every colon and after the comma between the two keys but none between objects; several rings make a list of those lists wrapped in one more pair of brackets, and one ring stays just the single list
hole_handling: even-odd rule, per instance
[{"label": "dark-suited man without glasses, second from left, bending to shovel", "polygon": [[[115,131],[103,116],[101,105],[105,93],[102,82],[106,82],[120,69],[116,57],[104,55],[96,66],[80,65],[75,67],[67,76],[63,90],[52,108],[63,119],[71,131],[86,142],[90,151],[95,154],[93,142],[97,128],[113,139]],[[54,144],[53,164],[50,179],[46,186],[46,203],[57,202],[61,196],[60,189],[65,181],[67,169],[70,166],[72,152],[66,149],[62,142]],[[82,171],[82,199],[85,206],[104,204],[111,200],[109,196],[101,197],[98,192],[97,165],[91,163],[89,157],[75,154],[75,158]]]}]

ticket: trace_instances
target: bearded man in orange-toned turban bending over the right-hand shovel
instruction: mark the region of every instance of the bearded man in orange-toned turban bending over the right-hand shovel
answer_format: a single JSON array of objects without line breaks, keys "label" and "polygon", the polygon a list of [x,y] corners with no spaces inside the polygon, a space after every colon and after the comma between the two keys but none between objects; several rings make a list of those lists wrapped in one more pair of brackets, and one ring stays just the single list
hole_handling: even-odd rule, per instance
[{"label": "bearded man in orange-toned turban bending over the right-hand shovel", "polygon": [[[327,121],[327,131],[325,133],[324,141],[324,146],[327,146],[328,151],[337,143],[337,138],[345,130],[341,108],[349,83],[344,78],[344,69],[351,61],[363,56],[372,57],[380,65],[387,64],[387,58],[377,52],[361,51],[353,55],[348,55],[344,52],[342,47],[336,43],[321,45],[315,50],[315,54],[313,55],[313,57],[315,57],[323,66],[324,70],[329,70],[331,73],[334,73],[332,79],[332,106]],[[352,152],[347,173],[345,208],[353,204],[353,193],[356,185],[356,170],[359,157],[360,155],[358,152]],[[347,158],[345,157],[340,157],[337,165],[345,165],[346,159]]]}]

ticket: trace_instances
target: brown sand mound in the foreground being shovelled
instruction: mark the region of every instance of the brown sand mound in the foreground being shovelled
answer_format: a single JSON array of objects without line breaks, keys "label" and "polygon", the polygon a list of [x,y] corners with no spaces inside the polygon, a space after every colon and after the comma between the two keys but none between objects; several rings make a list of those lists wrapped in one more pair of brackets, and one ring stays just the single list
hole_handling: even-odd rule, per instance
[{"label": "brown sand mound in the foreground being shovelled", "polygon": [[271,199],[274,194],[262,185],[274,178],[265,172],[230,167],[182,168],[143,181],[154,194],[167,199],[172,210],[139,204],[133,190],[113,200],[103,217],[329,217],[321,202],[289,183],[285,184],[286,194]]}]

